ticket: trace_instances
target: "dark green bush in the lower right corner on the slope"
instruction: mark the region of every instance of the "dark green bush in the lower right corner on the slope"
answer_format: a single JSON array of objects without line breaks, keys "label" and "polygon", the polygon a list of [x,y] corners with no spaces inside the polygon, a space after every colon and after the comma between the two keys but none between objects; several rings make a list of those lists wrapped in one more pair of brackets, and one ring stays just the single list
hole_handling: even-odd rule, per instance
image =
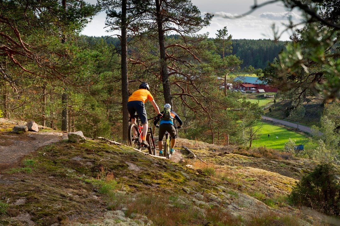
[{"label": "dark green bush in the lower right corner on the slope", "polygon": [[290,198],[295,205],[305,205],[328,215],[340,213],[340,185],[330,163],[317,165],[293,188]]}]

